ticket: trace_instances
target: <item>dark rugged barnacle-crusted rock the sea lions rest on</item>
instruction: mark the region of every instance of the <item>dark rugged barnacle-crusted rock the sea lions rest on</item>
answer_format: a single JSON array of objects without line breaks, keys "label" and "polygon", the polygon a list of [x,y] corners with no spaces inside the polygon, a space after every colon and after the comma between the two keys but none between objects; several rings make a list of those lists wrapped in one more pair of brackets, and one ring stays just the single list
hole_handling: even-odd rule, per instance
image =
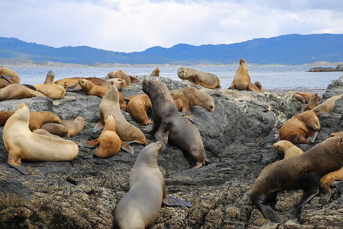
[{"label": "dark rugged barnacle-crusted rock the sea lions rest on", "polygon": [[[144,93],[140,83],[123,88],[123,96]],[[168,89],[184,88],[191,83],[159,78]],[[327,93],[343,91],[341,77],[328,87]],[[249,196],[256,177],[266,165],[281,160],[281,152],[273,148],[278,141],[278,128],[300,112],[301,105],[290,95],[270,92],[201,89],[215,102],[214,112],[202,107],[191,108],[195,125],[212,164],[189,169],[191,161],[175,146],[168,145],[157,161],[165,177],[167,194],[189,201],[191,208],[163,205],[153,228],[326,228],[343,227],[343,184],[332,188],[331,200],[321,203],[324,192],[296,212],[294,206],[301,190],[288,190],[277,196],[273,205],[281,223],[271,223]],[[336,95],[336,94],[335,94]],[[85,119],[84,129],[70,138],[93,140],[101,99],[67,92],[60,100],[31,98],[0,102],[0,111],[15,110],[28,103],[30,111],[52,111],[60,118]],[[330,133],[343,131],[342,102],[337,100],[330,114],[319,116],[321,130],[315,144]],[[138,126],[129,113],[125,118]],[[152,124],[141,129],[150,129]],[[148,144],[155,138],[146,135]],[[120,150],[117,155],[98,159],[93,149],[79,147],[78,157],[70,162],[26,162],[30,172],[25,176],[9,167],[7,151],[0,127],[0,228],[116,228],[116,203],[128,191],[130,169],[143,145],[132,144],[135,153]],[[306,151],[315,144],[298,145]]]}]

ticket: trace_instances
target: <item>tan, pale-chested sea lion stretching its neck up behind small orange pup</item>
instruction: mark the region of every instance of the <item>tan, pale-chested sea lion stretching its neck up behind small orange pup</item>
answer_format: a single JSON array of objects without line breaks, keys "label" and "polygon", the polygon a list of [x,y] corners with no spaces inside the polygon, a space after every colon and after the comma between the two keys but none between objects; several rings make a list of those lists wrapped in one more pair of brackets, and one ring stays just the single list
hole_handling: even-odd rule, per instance
[{"label": "tan, pale-chested sea lion stretching its neck up behind small orange pup", "polygon": [[120,140],[147,144],[144,133],[128,123],[120,111],[118,89],[113,81],[107,86],[106,94],[99,105],[99,111],[100,121],[94,126],[93,132],[104,127],[106,117],[111,113],[115,119],[115,130]]}]

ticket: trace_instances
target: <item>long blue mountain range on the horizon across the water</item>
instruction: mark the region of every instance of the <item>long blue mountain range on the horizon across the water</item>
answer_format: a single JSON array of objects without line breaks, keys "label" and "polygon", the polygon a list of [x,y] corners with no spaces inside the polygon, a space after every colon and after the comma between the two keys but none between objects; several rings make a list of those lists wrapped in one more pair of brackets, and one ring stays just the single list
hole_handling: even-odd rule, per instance
[{"label": "long blue mountain range on the horizon across the water", "polygon": [[0,58],[92,64],[233,64],[244,58],[254,64],[343,62],[343,34],[289,34],[221,45],[155,46],[142,52],[114,52],[88,46],[54,48],[0,37]]}]

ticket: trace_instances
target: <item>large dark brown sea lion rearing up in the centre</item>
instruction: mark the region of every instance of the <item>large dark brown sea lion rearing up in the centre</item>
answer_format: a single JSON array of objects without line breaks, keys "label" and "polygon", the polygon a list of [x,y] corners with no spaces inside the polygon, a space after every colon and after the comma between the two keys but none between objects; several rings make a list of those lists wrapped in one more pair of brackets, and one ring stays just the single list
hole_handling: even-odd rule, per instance
[{"label": "large dark brown sea lion rearing up in the centre", "polygon": [[162,82],[143,80],[142,89],[152,104],[152,130],[157,141],[166,145],[169,141],[187,154],[194,162],[192,168],[210,164],[207,159],[199,130],[176,109],[173,98]]}]

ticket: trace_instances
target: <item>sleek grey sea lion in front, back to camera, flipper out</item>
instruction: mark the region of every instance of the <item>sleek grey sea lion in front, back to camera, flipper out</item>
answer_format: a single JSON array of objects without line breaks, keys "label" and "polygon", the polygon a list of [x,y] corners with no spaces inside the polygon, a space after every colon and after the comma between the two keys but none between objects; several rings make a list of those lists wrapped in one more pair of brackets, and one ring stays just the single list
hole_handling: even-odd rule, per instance
[{"label": "sleek grey sea lion in front, back to camera, flipper out", "polygon": [[129,176],[130,190],[115,207],[114,220],[120,229],[147,228],[158,218],[162,203],[191,207],[186,201],[167,196],[157,164],[163,142],[153,142],[140,150]]}]

